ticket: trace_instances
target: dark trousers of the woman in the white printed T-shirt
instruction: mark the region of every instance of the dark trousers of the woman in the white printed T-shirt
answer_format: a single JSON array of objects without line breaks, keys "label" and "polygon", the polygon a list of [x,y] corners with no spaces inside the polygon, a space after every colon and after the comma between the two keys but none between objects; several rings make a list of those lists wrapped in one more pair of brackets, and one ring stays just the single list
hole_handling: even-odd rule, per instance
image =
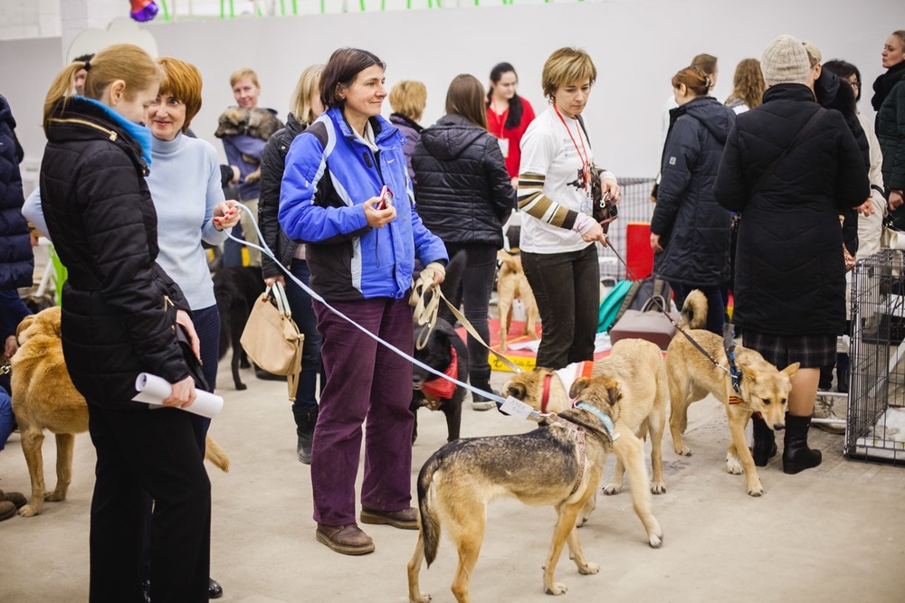
[{"label": "dark trousers of the woman in the white printed T-shirt", "polygon": [[566,253],[522,251],[521,263],[543,324],[538,366],[556,370],[594,360],[600,314],[596,245]]}]

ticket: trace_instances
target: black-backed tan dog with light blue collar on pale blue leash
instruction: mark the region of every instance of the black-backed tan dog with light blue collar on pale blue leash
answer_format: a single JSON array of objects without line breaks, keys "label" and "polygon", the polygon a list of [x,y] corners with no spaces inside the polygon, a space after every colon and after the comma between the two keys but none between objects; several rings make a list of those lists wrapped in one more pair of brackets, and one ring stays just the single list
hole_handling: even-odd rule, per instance
[{"label": "black-backed tan dog with light blue collar on pale blue leash", "polygon": [[443,525],[459,552],[452,594],[459,603],[471,600],[469,583],[484,538],[487,504],[498,496],[531,505],[549,504],[557,510],[544,564],[548,594],[566,592],[554,580],[566,542],[578,572],[597,573],[598,566],[586,561],[581,550],[575,523],[594,494],[606,454],[613,448],[612,425],[619,419],[620,392],[612,379],[595,377],[578,380],[570,393],[577,397],[576,408],[551,416],[539,429],[515,436],[459,439],[427,459],[418,475],[418,542],[408,562],[412,603],[431,600],[422,594],[418,577],[422,561],[426,559],[430,567],[436,559]]}]

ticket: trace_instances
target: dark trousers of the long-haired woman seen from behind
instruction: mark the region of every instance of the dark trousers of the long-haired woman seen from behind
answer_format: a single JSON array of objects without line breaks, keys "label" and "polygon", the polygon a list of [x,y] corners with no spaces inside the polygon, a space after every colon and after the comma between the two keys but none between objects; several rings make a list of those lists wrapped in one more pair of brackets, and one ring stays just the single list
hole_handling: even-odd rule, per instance
[{"label": "dark trousers of the long-haired woman seen from behind", "polygon": [[[496,245],[463,245],[446,243],[446,252],[450,259],[459,251],[465,252],[465,269],[462,279],[454,291],[441,285],[443,295],[453,306],[465,306],[465,318],[472,323],[474,330],[490,344],[491,329],[487,325],[487,306],[491,301],[493,275],[497,269]],[[439,316],[450,325],[455,325],[455,316],[445,304],[441,304]],[[491,364],[488,362],[487,348],[469,334],[468,343],[469,381],[475,387],[490,388]]]}]

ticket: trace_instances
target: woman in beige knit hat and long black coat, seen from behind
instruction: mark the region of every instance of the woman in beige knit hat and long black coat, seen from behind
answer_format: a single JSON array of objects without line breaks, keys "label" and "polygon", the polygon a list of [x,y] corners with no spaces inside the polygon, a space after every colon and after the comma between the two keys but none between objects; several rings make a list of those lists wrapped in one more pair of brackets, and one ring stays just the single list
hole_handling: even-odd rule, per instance
[{"label": "woman in beige knit hat and long black coat, seen from behind", "polygon": [[[713,193],[742,213],[733,317],[744,327],[744,344],[779,368],[801,366],[783,450],[783,470],[795,474],[821,461],[819,450],[807,448],[807,431],[819,367],[834,359],[845,321],[839,214],[863,203],[869,184],[843,116],[814,102],[814,72],[801,42],[776,38],[761,64],[764,104],[736,119]],[[772,427],[754,422],[758,466],[776,454]]]}]

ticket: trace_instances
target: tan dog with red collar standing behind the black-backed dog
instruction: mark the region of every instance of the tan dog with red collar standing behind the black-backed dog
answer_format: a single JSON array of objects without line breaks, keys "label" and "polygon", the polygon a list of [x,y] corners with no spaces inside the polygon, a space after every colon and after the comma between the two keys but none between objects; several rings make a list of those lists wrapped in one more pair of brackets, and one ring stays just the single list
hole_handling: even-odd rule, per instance
[{"label": "tan dog with red collar standing behind the black-backed dog", "polygon": [[[556,372],[540,368],[516,374],[503,385],[503,395],[522,400],[541,412],[562,412],[572,406],[563,383],[564,379],[571,379],[569,372],[574,374],[575,369],[567,368]],[[651,493],[666,492],[666,485],[663,483],[662,438],[666,428],[667,384],[662,352],[656,344],[641,339],[624,339],[616,342],[608,356],[593,363],[591,374],[612,378],[619,384],[619,391],[622,393],[621,412],[615,422],[616,432],[620,436],[613,446],[616,455],[615,474],[613,481],[605,486],[604,492],[607,495],[620,492],[624,471],[627,469],[635,513],[643,523],[651,546],[659,547],[663,532],[651,511]],[[543,391],[548,377],[548,399],[545,401]],[[647,467],[644,466],[643,438],[647,434],[651,436],[653,482],[648,480]],[[595,497],[592,496],[580,515],[579,525],[587,521],[594,507]]]}]

